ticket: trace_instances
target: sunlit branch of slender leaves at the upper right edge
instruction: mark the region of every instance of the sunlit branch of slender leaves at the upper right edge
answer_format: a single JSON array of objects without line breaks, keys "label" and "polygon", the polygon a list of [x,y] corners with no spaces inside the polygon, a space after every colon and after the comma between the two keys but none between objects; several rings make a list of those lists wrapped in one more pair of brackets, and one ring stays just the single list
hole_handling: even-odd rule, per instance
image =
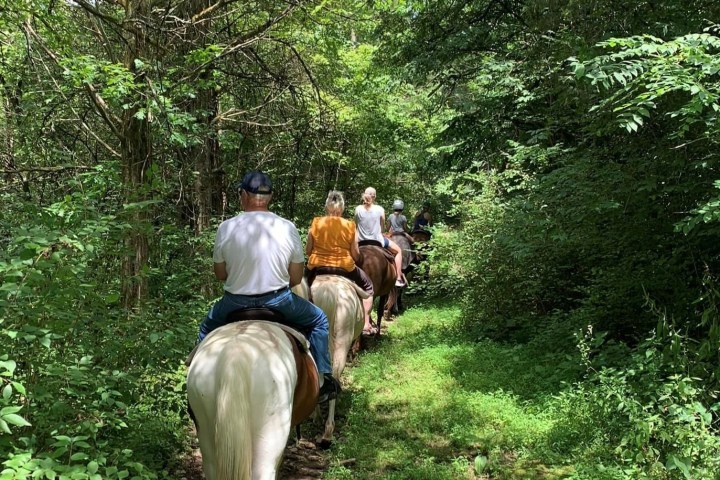
[{"label": "sunlit branch of slender leaves at the upper right edge", "polygon": [[612,38],[598,46],[618,52],[569,60],[577,78],[616,90],[593,109],[612,111],[628,132],[637,132],[652,111],[665,110],[679,124],[675,136],[699,125],[712,138],[720,111],[720,37],[710,32],[717,30],[668,42],[649,35]]}]

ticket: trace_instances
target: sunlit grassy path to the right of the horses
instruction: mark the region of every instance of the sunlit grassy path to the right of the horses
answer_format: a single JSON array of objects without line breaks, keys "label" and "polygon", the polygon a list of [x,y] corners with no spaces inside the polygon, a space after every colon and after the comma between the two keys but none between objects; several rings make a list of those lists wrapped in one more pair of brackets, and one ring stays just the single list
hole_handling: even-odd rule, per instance
[{"label": "sunlit grassy path to the right of the horses", "polygon": [[[466,338],[459,310],[415,305],[344,379],[329,479],[569,478],[553,406],[563,384],[522,346]],[[484,461],[487,464],[483,467]]]}]

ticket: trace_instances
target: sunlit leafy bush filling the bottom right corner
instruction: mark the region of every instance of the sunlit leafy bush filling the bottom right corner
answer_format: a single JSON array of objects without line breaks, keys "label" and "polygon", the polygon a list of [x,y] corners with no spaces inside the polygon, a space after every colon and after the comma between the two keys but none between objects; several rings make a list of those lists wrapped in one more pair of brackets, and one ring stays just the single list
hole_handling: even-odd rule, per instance
[{"label": "sunlit leafy bush filling the bottom right corner", "polygon": [[570,394],[573,408],[588,412],[585,433],[576,433],[586,444],[613,445],[631,478],[714,478],[720,439],[705,406],[708,392],[699,378],[667,362],[663,345],[658,337],[644,342],[623,369],[601,368]]}]

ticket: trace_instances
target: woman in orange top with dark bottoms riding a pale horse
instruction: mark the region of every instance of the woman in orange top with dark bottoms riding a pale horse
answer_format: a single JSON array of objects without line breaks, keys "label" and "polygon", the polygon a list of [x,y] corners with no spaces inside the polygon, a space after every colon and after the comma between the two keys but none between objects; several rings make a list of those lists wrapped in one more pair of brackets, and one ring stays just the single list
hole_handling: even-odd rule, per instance
[{"label": "woman in orange top with dark bottoms riding a pale horse", "polygon": [[373,286],[370,277],[355,265],[360,259],[355,223],[342,218],[345,211],[343,194],[336,190],[328,193],[324,217],[315,217],[308,232],[305,252],[308,255],[308,283],[316,275],[341,275],[355,282],[370,297],[363,300],[365,326],[363,333],[374,334],[377,330],[370,323],[373,302]]}]

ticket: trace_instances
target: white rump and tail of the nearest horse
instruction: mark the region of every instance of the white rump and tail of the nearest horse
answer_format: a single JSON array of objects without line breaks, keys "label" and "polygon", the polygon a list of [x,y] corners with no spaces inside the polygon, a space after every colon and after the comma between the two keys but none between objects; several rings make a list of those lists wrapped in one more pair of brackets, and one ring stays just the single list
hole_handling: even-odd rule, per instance
[{"label": "white rump and tail of the nearest horse", "polygon": [[187,378],[207,480],[274,480],[290,434],[297,370],[277,325],[237,322],[200,344]]}]

